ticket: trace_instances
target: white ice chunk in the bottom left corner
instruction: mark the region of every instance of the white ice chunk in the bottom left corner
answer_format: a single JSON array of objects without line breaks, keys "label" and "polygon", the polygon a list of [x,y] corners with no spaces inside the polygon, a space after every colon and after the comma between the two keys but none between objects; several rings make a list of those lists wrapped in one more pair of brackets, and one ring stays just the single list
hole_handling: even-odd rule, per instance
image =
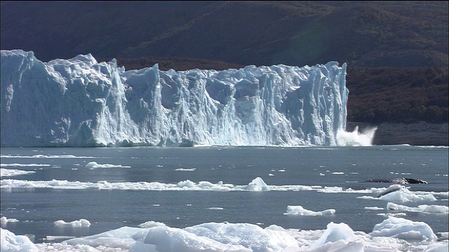
[{"label": "white ice chunk in the bottom left corner", "polygon": [[0,228],[1,252],[38,252],[37,247],[25,235],[15,235],[9,230]]}]

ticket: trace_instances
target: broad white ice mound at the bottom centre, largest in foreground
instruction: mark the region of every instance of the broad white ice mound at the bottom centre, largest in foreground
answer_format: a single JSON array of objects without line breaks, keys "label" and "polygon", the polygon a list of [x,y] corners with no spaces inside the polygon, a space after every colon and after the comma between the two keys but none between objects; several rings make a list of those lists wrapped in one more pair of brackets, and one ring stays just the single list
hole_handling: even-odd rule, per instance
[{"label": "broad white ice mound at the bottom centre, largest in foreground", "polygon": [[[123,230],[126,232],[126,230]],[[133,230],[135,232],[135,230]],[[102,237],[116,237],[105,234]],[[297,241],[283,228],[260,228],[249,223],[203,223],[189,228],[156,226],[127,235],[135,239],[129,251],[298,251]],[[129,242],[128,242],[129,244]],[[290,250],[288,250],[290,249]]]}]

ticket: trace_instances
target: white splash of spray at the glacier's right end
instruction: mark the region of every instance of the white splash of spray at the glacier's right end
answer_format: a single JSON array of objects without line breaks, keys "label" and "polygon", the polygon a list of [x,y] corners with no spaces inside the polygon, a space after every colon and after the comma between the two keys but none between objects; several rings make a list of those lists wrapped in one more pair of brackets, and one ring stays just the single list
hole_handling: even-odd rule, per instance
[{"label": "white splash of spray at the glacier's right end", "polygon": [[340,130],[337,132],[338,146],[372,146],[377,127],[367,128],[358,132],[358,126],[352,132]]}]

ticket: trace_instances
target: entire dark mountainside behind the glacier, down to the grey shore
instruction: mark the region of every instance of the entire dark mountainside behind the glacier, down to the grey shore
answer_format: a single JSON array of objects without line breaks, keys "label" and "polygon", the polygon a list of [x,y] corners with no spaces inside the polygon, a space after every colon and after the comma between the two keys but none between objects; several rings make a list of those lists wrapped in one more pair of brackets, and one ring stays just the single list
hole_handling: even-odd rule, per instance
[{"label": "entire dark mountainside behind the glacier, down to the grey shore", "polygon": [[348,120],[448,122],[448,1],[1,1],[1,49],[127,70],[346,62]]}]

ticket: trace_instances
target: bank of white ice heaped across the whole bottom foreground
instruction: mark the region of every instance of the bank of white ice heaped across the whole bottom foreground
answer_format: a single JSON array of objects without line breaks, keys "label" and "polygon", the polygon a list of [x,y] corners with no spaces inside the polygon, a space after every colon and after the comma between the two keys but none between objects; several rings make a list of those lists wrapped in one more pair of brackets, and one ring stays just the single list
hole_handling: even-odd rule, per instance
[{"label": "bank of white ice heaped across the whole bottom foreground", "polygon": [[[149,221],[145,228],[122,227],[61,243],[33,244],[28,237],[1,229],[1,251],[447,251],[425,223],[389,217],[371,234],[355,232],[345,223],[326,230],[260,228],[250,223],[203,223],[170,228]],[[417,244],[414,241],[424,239]]]}]

